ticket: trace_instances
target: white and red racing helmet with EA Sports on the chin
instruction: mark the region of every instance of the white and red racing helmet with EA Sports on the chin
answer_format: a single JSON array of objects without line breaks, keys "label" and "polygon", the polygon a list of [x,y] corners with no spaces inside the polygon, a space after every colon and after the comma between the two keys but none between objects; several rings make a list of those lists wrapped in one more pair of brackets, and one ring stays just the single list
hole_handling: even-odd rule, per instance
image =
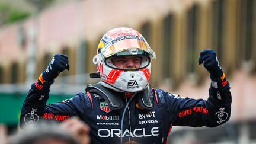
[{"label": "white and red racing helmet with EA Sports on the chin", "polygon": [[[141,56],[140,68],[119,69],[113,57]],[[156,58],[144,37],[132,28],[120,27],[108,31],[98,45],[93,62],[97,65],[101,85],[117,92],[139,92],[147,88],[151,75],[151,61]]]}]

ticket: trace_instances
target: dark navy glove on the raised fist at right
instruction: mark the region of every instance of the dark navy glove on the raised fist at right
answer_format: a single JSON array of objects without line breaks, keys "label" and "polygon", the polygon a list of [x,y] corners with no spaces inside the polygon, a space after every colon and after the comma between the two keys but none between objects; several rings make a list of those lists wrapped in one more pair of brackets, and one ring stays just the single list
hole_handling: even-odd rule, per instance
[{"label": "dark navy glove on the raised fist at right", "polygon": [[199,56],[199,65],[203,63],[204,67],[210,73],[210,78],[217,81],[218,78],[223,76],[222,68],[217,60],[214,50],[203,50]]}]

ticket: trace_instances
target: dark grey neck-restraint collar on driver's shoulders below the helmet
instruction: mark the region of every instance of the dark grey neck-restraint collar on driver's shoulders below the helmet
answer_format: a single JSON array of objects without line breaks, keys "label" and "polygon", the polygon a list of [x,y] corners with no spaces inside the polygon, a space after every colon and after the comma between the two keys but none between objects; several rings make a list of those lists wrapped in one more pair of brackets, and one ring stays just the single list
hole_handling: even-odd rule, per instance
[{"label": "dark grey neck-restraint collar on driver's shoulders below the helmet", "polygon": [[[100,82],[94,85],[87,85],[85,91],[89,91],[103,97],[104,100],[107,101],[108,107],[110,107],[111,110],[120,110],[123,108],[124,104],[121,100],[123,92],[116,92],[110,88],[106,88],[101,85]],[[137,92],[137,100],[140,107],[146,110],[152,110],[153,102],[151,88],[148,86],[143,91]]]}]

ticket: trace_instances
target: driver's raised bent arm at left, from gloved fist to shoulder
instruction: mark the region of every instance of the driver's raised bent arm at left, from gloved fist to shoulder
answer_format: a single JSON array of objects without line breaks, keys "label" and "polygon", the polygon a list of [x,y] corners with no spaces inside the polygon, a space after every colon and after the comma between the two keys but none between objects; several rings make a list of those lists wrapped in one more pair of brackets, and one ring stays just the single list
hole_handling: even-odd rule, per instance
[{"label": "driver's raised bent arm at left, from gloved fist to shoulder", "polygon": [[77,94],[69,100],[63,100],[56,104],[46,105],[49,99],[50,85],[60,72],[69,69],[68,56],[57,54],[41,73],[39,78],[31,85],[27,97],[23,103],[20,117],[20,127],[27,124],[36,124],[43,119],[65,121],[71,116],[79,116],[85,98],[83,93]]}]

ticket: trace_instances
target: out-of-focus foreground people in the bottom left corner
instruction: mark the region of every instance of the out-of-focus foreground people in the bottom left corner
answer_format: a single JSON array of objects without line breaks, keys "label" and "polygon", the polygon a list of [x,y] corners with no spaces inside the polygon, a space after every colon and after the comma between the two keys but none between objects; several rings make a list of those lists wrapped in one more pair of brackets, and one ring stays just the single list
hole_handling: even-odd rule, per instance
[{"label": "out-of-focus foreground people in the bottom left corner", "polygon": [[10,136],[6,127],[0,124],[0,144],[87,144],[91,141],[89,131],[89,126],[78,117],[62,123],[28,125]]}]

